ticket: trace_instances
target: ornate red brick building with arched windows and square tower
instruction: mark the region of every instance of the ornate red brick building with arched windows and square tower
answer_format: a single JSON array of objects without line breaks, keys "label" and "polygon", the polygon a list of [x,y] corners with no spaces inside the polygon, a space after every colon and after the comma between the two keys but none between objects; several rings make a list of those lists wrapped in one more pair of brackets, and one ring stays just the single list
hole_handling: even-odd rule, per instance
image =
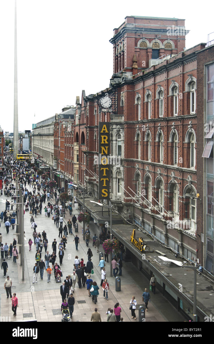
[{"label": "ornate red brick building with arched windows and square tower", "polygon": [[[197,59],[205,43],[186,50],[187,33],[181,19],[126,17],[110,40],[110,87],[88,96],[82,91],[81,100],[76,98],[71,138],[68,133],[65,138],[64,124],[56,123],[56,137],[60,130],[56,158],[65,176],[86,184],[98,198],[94,164],[98,125],[110,121],[111,204],[122,217],[133,218],[140,229],[175,252],[203,264],[203,245],[199,248],[203,204],[199,206],[196,198],[197,193],[203,194],[203,159],[197,151],[198,89],[202,92],[204,87],[198,73],[202,73],[203,57],[200,67]],[[110,98],[109,107],[102,106],[103,97]],[[199,99],[202,102],[202,93]],[[201,136],[199,140],[201,144]]]}]

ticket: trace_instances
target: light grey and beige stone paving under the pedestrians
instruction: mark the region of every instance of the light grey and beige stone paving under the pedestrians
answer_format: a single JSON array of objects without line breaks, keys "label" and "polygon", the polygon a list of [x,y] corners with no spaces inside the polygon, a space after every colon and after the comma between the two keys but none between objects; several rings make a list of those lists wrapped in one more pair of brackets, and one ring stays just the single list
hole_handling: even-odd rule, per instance
[{"label": "light grey and beige stone paving under the pedestrians", "polygon": [[[29,190],[32,191],[32,188],[27,186]],[[2,196],[5,200],[6,197]],[[52,200],[53,201],[53,200]],[[45,206],[46,203],[43,205]],[[5,204],[4,204],[5,205]],[[43,208],[44,208],[43,206]],[[0,204],[0,211],[4,207]],[[78,211],[73,207],[73,213],[77,216]],[[29,238],[33,240],[32,233],[33,230],[30,224],[31,215],[29,212],[26,212],[24,215],[24,230],[25,230],[25,280],[22,281],[22,267],[20,266],[20,259],[17,263],[12,261],[12,258],[8,258],[8,275],[12,278],[12,293],[16,292],[16,296],[18,297],[19,301],[19,308],[17,308],[17,316],[13,316],[13,312],[11,310],[11,299],[7,299],[6,292],[3,289],[4,287],[4,280],[3,272],[0,278],[0,288],[2,293],[0,294],[0,302],[1,302],[1,316],[8,316],[11,317],[10,321],[25,321],[25,320],[33,320],[36,319],[37,321],[61,321],[61,295],[60,295],[60,285],[61,283],[56,283],[54,275],[51,277],[50,283],[47,283],[46,278],[46,271],[44,271],[43,280],[40,278],[40,274],[38,275],[38,282],[32,284],[33,281],[33,266],[35,264],[35,254],[36,254],[36,245],[32,245],[32,250],[29,251],[28,240]],[[72,216],[69,215],[69,212],[66,212],[65,215],[65,222],[67,225],[68,219],[71,219]],[[50,254],[52,253],[52,241],[56,238],[57,243],[60,242],[58,237],[58,228],[54,225],[54,221],[52,221],[52,216],[49,218],[45,216],[44,209],[42,210],[42,215],[37,215],[34,217],[35,222],[37,224],[37,232],[42,233],[43,230],[47,233],[48,238],[48,250]],[[63,258],[63,264],[61,265],[61,270],[63,272],[63,277],[61,281],[63,282],[67,275],[71,275],[73,271],[73,264],[75,256],[81,259],[84,259],[84,262],[87,262],[87,250],[85,241],[83,241],[81,230],[82,226],[79,225],[79,232],[78,236],[80,238],[80,244],[78,246],[78,252],[75,248],[74,235],[67,236],[67,245],[65,249],[65,255]],[[90,222],[90,231],[91,237],[93,236],[94,232],[97,231],[99,233],[99,227]],[[2,242],[5,244],[5,241],[10,245],[13,242],[13,238],[16,237],[15,230],[12,230],[10,227],[9,234],[6,233],[6,228],[4,227],[4,223],[1,222],[1,233],[2,233]],[[94,265],[94,275],[91,275],[93,281],[96,281],[99,286],[99,297],[98,303],[96,306],[92,302],[92,299],[88,297],[88,291],[85,288],[79,289],[78,284],[75,286],[75,305],[74,305],[74,313],[72,316],[72,322],[86,322],[90,321],[91,313],[94,311],[94,308],[97,307],[98,311],[101,313],[102,321],[106,321],[107,315],[106,311],[109,307],[114,308],[114,304],[116,302],[120,303],[120,307],[122,308],[121,316],[124,318],[126,322],[135,322],[131,319],[131,311],[129,310],[129,301],[132,298],[132,295],[135,295],[137,300],[137,304],[142,304],[142,291],[144,288],[149,287],[149,281],[139,272],[139,270],[130,262],[124,263],[123,262],[123,272],[121,276],[121,291],[115,291],[115,278],[110,277],[110,262],[106,263],[106,278],[108,279],[110,291],[109,291],[109,300],[105,300],[103,298],[103,290],[100,287],[101,281],[101,274],[100,268],[98,267],[99,264],[99,254],[97,250],[92,247],[92,239],[89,241],[89,247],[92,249],[93,257],[92,262]],[[58,245],[57,245],[58,248]],[[100,250],[102,250],[102,246],[100,246]],[[42,259],[44,261],[45,251],[44,248],[42,250]],[[57,251],[58,257],[58,251]],[[56,259],[59,264],[59,261]],[[146,312],[146,321],[150,322],[157,322],[157,321],[183,321],[183,317],[172,307],[172,305],[164,298],[162,295],[157,291],[155,295],[151,293],[151,303],[148,305],[149,309]],[[138,310],[136,311],[136,316],[138,321]]]}]

